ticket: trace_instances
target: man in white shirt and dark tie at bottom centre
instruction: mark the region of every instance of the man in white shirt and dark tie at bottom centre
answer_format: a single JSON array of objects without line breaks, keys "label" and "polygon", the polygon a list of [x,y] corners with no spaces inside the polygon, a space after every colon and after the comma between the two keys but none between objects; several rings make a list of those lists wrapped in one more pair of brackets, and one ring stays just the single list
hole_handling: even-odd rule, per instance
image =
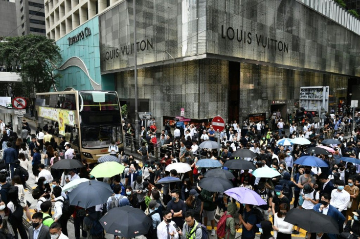
[{"label": "man in white shirt and dark tie at bottom centre", "polygon": [[172,212],[169,210],[164,210],[162,213],[162,221],[158,224],[157,227],[157,237],[158,239],[179,239],[180,228],[172,221],[173,216]]}]

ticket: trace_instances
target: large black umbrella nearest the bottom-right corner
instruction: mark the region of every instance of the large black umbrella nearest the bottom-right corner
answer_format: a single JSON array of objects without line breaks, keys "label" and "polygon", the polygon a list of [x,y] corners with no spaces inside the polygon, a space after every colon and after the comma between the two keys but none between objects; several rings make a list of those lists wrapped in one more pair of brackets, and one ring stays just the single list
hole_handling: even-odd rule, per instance
[{"label": "large black umbrella nearest the bottom-right corner", "polygon": [[293,208],[286,214],[284,221],[298,225],[307,232],[339,234],[337,221],[315,210]]}]

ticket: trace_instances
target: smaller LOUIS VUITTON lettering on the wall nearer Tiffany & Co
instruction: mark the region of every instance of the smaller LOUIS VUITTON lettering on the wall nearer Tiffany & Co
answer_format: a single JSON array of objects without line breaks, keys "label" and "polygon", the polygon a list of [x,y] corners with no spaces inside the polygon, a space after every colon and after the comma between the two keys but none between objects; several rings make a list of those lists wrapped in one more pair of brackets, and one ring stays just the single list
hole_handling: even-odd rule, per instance
[{"label": "smaller LOUIS VUITTON lettering on the wall nearer Tiffany & Co", "polygon": [[[134,54],[134,49],[135,49],[135,47],[134,47],[134,43],[133,43],[133,44],[124,45],[124,46],[120,47],[120,49],[116,48],[116,49],[106,51],[105,53],[103,53],[103,60],[110,60],[110,59],[118,58],[120,54],[122,56]],[[139,52],[139,50],[145,51],[145,50],[153,49],[153,39],[151,38],[150,40],[146,39],[146,40],[137,41],[136,49],[137,49],[137,52]]]}]

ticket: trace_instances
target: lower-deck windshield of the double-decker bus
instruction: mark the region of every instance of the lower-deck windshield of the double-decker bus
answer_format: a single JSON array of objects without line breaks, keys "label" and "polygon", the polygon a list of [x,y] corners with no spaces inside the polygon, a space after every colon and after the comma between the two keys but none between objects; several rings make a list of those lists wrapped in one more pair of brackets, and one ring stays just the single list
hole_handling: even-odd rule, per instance
[{"label": "lower-deck windshield of the double-decker bus", "polygon": [[83,126],[81,127],[81,140],[83,148],[109,147],[111,141],[121,142],[121,125],[112,126]]}]

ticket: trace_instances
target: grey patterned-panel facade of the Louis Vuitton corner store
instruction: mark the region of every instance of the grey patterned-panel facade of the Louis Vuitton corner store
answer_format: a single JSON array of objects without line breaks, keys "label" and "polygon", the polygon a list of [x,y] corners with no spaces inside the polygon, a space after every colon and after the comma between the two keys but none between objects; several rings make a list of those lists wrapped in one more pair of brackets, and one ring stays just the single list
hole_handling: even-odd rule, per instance
[{"label": "grey patterned-panel facade of the Louis Vuitton corner store", "polygon": [[[360,77],[359,35],[301,1],[137,0],[135,19],[136,44],[132,0],[99,15],[98,82],[115,85],[133,112],[136,50],[139,112],[157,121],[180,108],[190,119],[277,109],[286,119],[303,86],[329,86],[329,109],[337,110],[348,78]],[[83,38],[68,44],[67,52],[91,47]]]}]

